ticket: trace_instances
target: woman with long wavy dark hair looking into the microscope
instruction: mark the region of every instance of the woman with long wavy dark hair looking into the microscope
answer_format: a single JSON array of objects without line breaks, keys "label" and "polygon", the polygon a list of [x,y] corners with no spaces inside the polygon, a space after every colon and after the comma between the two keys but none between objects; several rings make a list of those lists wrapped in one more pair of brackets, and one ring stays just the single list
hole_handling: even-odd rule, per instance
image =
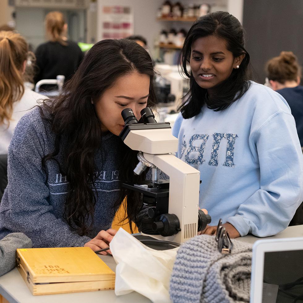
[{"label": "woman with long wavy dark hair looking into the microscope", "polygon": [[[130,40],[103,40],[83,59],[64,92],[19,121],[8,150],[8,186],[0,204],[0,239],[22,232],[33,247],[108,247],[115,211],[140,225],[137,152],[118,137],[121,111],[154,106],[153,62]],[[106,252],[103,252],[106,254]]]}]

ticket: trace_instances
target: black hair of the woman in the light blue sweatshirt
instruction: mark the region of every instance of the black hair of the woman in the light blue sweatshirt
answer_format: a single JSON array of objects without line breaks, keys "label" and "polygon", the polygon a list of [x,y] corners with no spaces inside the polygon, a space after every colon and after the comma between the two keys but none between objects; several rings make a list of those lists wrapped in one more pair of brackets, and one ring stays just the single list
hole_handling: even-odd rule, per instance
[{"label": "black hair of the woman in the light blue sweatshirt", "polygon": [[[187,70],[190,62],[191,46],[198,38],[215,35],[227,41],[227,49],[234,57],[245,54],[239,69],[233,69],[228,79],[216,86],[216,93],[207,96],[207,90],[200,87],[191,71]],[[190,28],[181,50],[181,70],[190,78],[190,90],[185,102],[179,107],[184,119],[198,115],[204,104],[215,111],[226,109],[241,98],[250,87],[248,64],[250,56],[244,48],[244,34],[241,23],[228,12],[217,11],[198,18]]]}]

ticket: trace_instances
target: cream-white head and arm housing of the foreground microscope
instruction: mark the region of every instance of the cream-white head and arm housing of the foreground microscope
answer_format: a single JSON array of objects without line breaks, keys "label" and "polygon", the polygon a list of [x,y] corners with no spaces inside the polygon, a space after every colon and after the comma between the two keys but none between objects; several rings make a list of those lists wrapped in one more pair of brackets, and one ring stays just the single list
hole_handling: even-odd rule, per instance
[{"label": "cream-white head and arm housing of the foreground microscope", "polygon": [[[198,233],[200,172],[175,156],[178,139],[172,135],[169,123],[155,123],[155,126],[159,124],[165,128],[152,128],[152,123],[147,123],[145,126],[149,129],[131,129],[122,139],[132,150],[143,152],[145,160],[169,176],[168,212],[177,216],[180,223],[178,230],[181,231],[168,237],[149,236],[183,243]],[[139,127],[139,124],[131,126]],[[209,219],[203,223],[204,228],[210,222],[210,217],[207,217]]]}]

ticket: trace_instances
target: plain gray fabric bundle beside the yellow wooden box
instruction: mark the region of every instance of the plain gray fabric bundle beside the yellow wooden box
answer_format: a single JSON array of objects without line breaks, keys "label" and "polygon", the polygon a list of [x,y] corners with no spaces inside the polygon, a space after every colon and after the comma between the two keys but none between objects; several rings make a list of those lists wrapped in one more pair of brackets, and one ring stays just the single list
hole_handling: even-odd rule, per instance
[{"label": "plain gray fabric bundle beside the yellow wooden box", "polygon": [[0,240],[0,276],[16,266],[16,249],[31,248],[32,240],[24,233],[10,233]]}]

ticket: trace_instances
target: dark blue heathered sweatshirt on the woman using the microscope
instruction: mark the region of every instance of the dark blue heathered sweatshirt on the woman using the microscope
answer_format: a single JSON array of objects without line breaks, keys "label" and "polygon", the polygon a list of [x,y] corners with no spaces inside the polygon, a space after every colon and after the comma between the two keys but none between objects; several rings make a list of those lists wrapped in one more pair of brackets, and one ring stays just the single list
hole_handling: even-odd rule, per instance
[{"label": "dark blue heathered sweatshirt on the woman using the microscope", "polygon": [[[0,239],[11,232],[22,232],[32,239],[33,247],[83,246],[100,230],[110,228],[119,193],[117,148],[121,139],[109,133],[102,140],[102,154],[95,157],[99,177],[95,183],[98,199],[93,230],[81,237],[63,220],[66,176],[53,160],[46,162],[46,173],[42,170],[41,160],[53,152],[55,135],[38,108],[25,114],[15,128],[8,151],[8,186],[0,204]],[[62,140],[56,156],[63,169],[64,144]],[[139,213],[138,220],[141,216]]]}]

